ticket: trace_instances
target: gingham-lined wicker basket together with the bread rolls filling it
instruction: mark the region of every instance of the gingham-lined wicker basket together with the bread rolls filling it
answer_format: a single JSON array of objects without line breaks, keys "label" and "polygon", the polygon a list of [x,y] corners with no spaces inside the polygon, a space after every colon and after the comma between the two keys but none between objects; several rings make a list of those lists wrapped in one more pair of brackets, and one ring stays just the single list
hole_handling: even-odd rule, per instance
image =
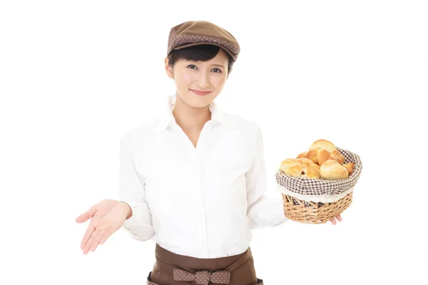
[{"label": "gingham-lined wicker basket together with the bread rolls filling it", "polygon": [[323,224],[341,214],[352,202],[361,170],[357,154],[328,140],[316,140],[306,152],[283,160],[276,180],[285,217]]}]

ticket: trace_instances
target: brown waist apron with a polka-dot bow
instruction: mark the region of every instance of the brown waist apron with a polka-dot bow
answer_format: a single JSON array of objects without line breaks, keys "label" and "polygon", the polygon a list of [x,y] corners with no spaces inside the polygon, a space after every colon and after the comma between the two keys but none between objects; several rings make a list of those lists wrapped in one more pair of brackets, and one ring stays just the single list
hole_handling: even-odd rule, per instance
[{"label": "brown waist apron with a polka-dot bow", "polygon": [[148,285],[263,285],[255,274],[253,254],[198,259],[174,254],[156,244],[156,263],[148,274]]}]

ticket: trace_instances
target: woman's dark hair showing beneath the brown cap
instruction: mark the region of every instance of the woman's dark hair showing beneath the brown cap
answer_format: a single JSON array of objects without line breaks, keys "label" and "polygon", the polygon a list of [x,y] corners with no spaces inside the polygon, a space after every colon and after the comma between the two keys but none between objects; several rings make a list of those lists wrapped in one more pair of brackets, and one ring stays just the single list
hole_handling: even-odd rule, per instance
[{"label": "woman's dark hair showing beneath the brown cap", "polygon": [[[213,45],[199,45],[199,46],[189,46],[188,48],[181,48],[178,50],[171,51],[168,56],[168,66],[173,67],[175,62],[180,58],[183,58],[187,61],[209,61],[210,59],[217,56],[218,51],[220,51],[219,46]],[[225,52],[226,53],[226,52]],[[229,53],[226,53],[229,59],[228,74],[233,66],[233,58]]]}]

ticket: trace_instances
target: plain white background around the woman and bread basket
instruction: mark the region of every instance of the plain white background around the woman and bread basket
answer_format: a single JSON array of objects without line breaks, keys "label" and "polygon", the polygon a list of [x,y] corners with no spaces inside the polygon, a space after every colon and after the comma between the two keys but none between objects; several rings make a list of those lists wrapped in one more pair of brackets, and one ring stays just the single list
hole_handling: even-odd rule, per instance
[{"label": "plain white background around the woman and bread basket", "polygon": [[427,284],[426,2],[236,2],[0,2],[1,284],[146,284],[153,242],[83,255],[74,219],[116,197],[119,140],[175,92],[168,33],[192,20],[238,38],[218,103],[261,125],[268,195],[320,138],[364,164],[343,222],[254,231],[259,278]]}]

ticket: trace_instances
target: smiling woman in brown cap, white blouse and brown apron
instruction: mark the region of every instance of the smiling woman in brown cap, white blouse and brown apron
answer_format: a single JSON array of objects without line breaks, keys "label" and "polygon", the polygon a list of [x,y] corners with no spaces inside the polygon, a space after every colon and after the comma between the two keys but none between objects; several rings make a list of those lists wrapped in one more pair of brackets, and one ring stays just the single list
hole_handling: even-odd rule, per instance
[{"label": "smiling woman in brown cap, white blouse and brown apron", "polygon": [[285,222],[282,199],[265,196],[258,125],[214,102],[239,52],[235,37],[210,22],[171,28],[165,71],[176,93],[159,118],[123,136],[121,201],[103,200],[76,219],[91,219],[84,254],[122,227],[156,242],[148,284],[263,284],[251,229]]}]

